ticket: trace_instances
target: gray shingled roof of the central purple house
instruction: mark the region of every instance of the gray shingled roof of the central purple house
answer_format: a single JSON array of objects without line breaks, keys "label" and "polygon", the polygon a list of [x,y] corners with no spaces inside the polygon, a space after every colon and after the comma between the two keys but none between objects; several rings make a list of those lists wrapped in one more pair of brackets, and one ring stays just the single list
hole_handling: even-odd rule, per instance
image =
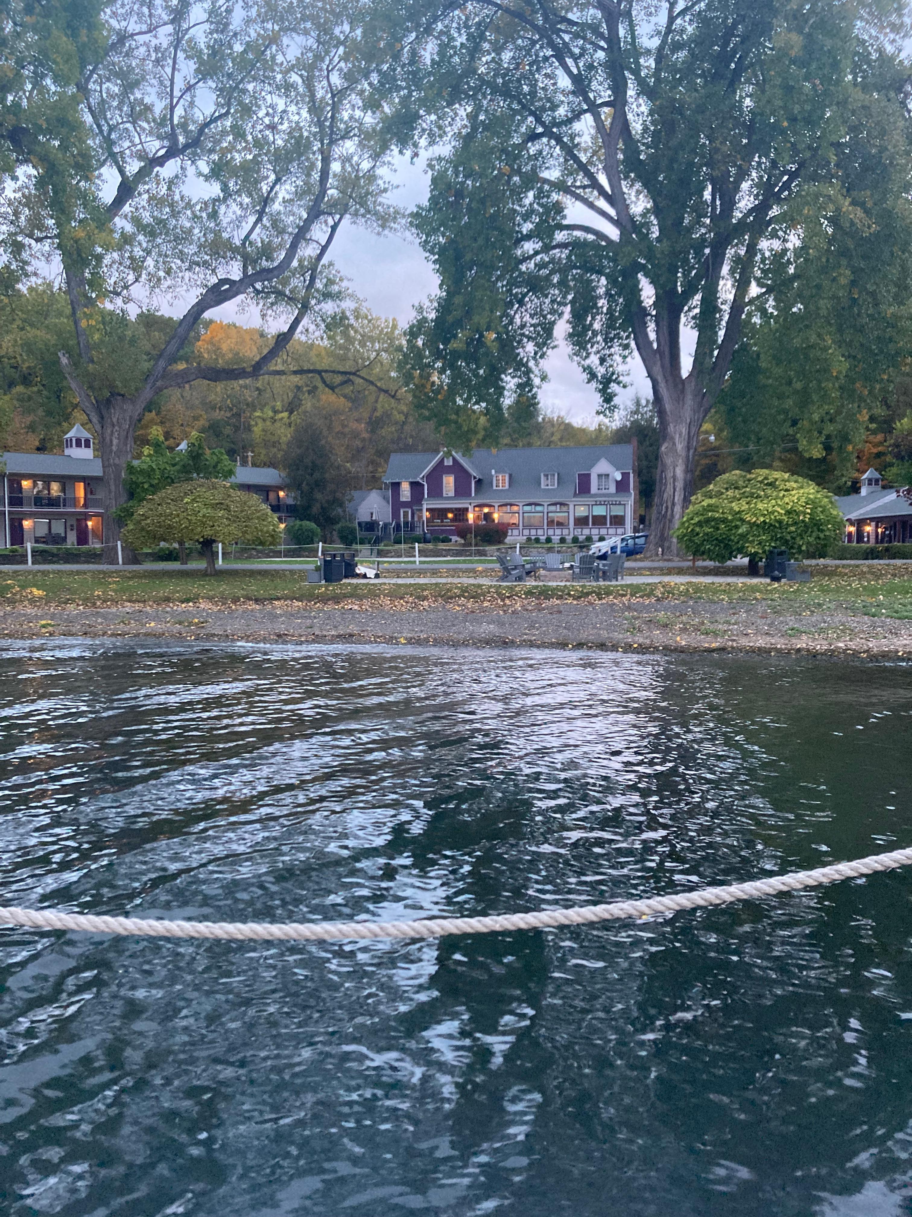
[{"label": "gray shingled roof of the central purple house", "polygon": [[[383,477],[384,482],[413,482],[421,477],[428,465],[437,460],[439,453],[393,453]],[[460,455],[458,453],[456,454]],[[540,499],[542,493],[554,499],[563,494],[573,497],[576,490],[576,475],[586,473],[602,458],[617,470],[634,467],[634,448],[631,444],[598,444],[584,448],[475,448],[468,460],[469,467],[482,478],[475,489],[475,498],[496,498],[501,501],[517,497],[519,499]],[[510,473],[510,489],[494,490],[491,471]],[[541,488],[542,473],[557,473],[557,489]]]}]

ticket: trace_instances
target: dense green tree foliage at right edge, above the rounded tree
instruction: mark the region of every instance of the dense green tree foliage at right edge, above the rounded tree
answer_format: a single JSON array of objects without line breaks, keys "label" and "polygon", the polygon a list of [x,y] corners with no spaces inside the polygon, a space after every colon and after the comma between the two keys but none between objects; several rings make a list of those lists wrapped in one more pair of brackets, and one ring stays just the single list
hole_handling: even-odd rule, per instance
[{"label": "dense green tree foliage at right edge, above the rounded tree", "polygon": [[803,191],[790,240],[760,259],[756,307],[715,409],[745,459],[838,493],[856,453],[869,467],[866,441],[901,417],[912,348],[912,124],[891,100],[908,74],[888,69],[880,62],[879,90],[857,99],[835,148],[838,189]]}]

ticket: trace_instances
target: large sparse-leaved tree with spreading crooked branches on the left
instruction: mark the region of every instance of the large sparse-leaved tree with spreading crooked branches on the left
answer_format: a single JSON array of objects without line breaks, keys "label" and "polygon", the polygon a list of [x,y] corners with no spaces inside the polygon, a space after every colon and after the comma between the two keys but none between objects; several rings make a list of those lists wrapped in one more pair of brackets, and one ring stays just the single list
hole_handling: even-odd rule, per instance
[{"label": "large sparse-leaved tree with spreading crooked branches on the left", "polygon": [[[152,0],[112,4],[103,22],[85,0],[40,21],[32,7],[10,0],[0,44],[0,240],[10,275],[61,267],[60,366],[98,437],[109,550],[136,425],[158,394],[304,375],[281,357],[343,298],[327,262],[339,226],[393,215],[394,107],[372,94],[382,52],[362,37],[364,4]],[[129,309],[164,292],[190,303],[148,349]],[[253,361],[187,358],[201,321],[232,302],[282,318],[281,332]],[[316,374],[336,385],[331,371]]]}]

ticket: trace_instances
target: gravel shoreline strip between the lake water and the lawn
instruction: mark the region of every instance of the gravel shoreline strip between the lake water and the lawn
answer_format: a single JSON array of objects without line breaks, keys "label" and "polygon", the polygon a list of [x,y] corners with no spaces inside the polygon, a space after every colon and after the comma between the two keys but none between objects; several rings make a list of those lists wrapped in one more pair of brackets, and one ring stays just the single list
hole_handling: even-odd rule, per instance
[{"label": "gravel shoreline strip between the lake water and the lawn", "polygon": [[912,621],[762,604],[530,604],[375,607],[295,602],[116,608],[4,608],[0,638],[181,638],[199,641],[421,643],[608,651],[912,656]]}]

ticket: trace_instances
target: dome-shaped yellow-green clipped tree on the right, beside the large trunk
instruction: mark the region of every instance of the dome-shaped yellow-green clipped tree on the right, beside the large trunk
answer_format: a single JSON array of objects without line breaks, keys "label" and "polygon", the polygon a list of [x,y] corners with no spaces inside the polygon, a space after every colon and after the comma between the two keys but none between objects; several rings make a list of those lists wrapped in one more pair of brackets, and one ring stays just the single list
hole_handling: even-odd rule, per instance
[{"label": "dome-shaped yellow-green clipped tree on the right, beside the large trunk", "polygon": [[771,549],[793,557],[826,554],[843,534],[833,497],[814,482],[776,470],[736,470],[717,477],[677,526],[677,540],[694,557],[727,562],[764,559]]}]

